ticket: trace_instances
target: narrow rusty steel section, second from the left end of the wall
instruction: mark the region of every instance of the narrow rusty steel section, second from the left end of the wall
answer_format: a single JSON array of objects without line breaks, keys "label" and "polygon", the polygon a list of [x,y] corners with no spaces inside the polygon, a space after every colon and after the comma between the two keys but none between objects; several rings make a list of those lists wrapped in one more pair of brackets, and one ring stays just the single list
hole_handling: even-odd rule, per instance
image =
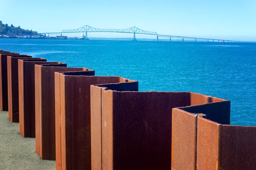
[{"label": "narrow rusty steel section, second from the left end of the wall", "polygon": [[30,59],[29,55],[7,56],[8,113],[11,122],[19,122],[18,59]]}]

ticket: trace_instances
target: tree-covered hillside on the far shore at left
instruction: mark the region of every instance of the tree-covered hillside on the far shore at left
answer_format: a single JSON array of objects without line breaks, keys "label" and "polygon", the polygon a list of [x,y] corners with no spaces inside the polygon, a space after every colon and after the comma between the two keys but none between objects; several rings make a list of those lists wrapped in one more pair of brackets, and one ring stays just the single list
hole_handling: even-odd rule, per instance
[{"label": "tree-covered hillside on the far shore at left", "polygon": [[23,35],[37,35],[37,31],[32,31],[28,29],[22,29],[20,26],[15,27],[13,25],[8,26],[8,24],[3,24],[2,21],[0,21],[0,35],[9,35],[12,37],[15,36],[23,36]]}]

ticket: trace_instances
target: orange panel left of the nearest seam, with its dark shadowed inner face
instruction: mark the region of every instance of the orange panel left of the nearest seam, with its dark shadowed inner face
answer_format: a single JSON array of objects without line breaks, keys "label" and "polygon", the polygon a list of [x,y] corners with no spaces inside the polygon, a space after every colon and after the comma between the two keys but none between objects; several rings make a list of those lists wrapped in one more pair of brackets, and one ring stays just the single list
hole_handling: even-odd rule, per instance
[{"label": "orange panel left of the nearest seam, with its dark shadowed inner face", "polygon": [[[219,122],[230,123],[230,101],[206,96],[197,105],[174,108],[172,111],[172,169],[198,170],[198,115],[203,113]],[[198,100],[197,98],[194,98]],[[209,101],[211,103],[206,103]],[[201,105],[200,105],[201,104]],[[206,168],[207,169],[207,168]]]}]

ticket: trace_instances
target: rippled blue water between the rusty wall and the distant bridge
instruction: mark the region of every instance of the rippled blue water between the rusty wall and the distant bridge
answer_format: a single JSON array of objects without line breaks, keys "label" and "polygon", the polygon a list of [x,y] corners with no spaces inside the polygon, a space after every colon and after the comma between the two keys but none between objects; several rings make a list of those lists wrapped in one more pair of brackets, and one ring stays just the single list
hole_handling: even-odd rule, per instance
[{"label": "rippled blue water between the rusty wall and the distant bridge", "polygon": [[0,49],[231,101],[231,124],[256,126],[256,43],[0,39]]}]

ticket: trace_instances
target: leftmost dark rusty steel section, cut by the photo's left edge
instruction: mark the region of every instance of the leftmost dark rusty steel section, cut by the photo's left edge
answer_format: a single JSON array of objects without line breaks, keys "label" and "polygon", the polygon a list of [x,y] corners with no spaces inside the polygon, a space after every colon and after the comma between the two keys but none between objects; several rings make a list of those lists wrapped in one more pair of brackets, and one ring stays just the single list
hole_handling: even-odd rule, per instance
[{"label": "leftmost dark rusty steel section, cut by the photo's left edge", "polygon": [[[3,51],[2,51],[3,52]],[[7,56],[18,53],[0,52],[0,109],[8,111]]]}]

